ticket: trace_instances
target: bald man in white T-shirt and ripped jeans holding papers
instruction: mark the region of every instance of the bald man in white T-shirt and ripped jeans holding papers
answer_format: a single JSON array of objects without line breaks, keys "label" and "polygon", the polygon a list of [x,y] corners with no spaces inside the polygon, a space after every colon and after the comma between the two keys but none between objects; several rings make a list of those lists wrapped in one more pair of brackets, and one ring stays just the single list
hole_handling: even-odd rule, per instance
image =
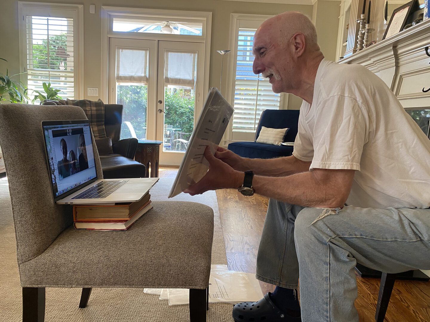
[{"label": "bald man in white T-shirt and ripped jeans holding papers", "polygon": [[208,173],[185,191],[240,187],[271,198],[256,276],[276,289],[237,304],[233,318],[358,322],[356,263],[430,268],[430,140],[381,79],[324,59],[298,12],[265,21],[253,52],[254,73],[274,92],[304,100],[293,155],[247,159],[218,148],[214,156],[208,147]]}]

